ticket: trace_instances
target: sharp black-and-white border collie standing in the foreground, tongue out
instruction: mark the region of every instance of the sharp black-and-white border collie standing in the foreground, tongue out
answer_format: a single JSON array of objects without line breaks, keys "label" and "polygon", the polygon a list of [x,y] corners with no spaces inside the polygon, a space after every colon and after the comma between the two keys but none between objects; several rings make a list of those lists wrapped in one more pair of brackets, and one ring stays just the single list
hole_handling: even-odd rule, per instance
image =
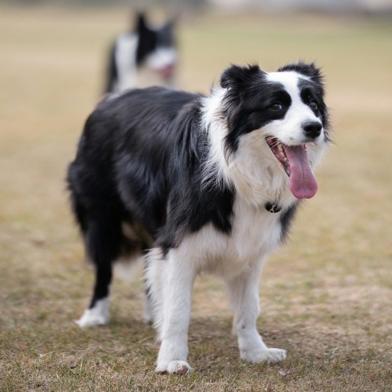
[{"label": "sharp black-and-white border collie standing in the foreground, tongue out", "polygon": [[232,65],[203,96],[166,88],[105,98],[88,118],[68,181],[96,266],[77,323],[108,321],[112,265],[145,255],[145,319],[161,342],[157,372],[184,373],[195,277],[221,275],[240,358],[274,363],[257,332],[265,256],[284,240],[329,143],[320,70],[292,63],[267,73]]}]

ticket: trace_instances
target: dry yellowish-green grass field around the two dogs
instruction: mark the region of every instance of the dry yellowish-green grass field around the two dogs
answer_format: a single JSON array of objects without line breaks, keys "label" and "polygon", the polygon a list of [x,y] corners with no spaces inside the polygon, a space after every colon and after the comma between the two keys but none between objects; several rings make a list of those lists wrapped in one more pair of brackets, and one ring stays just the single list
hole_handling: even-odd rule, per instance
[{"label": "dry yellowish-green grass field around the two dogs", "polygon": [[179,26],[180,85],[229,62],[324,66],[335,146],[319,192],[269,257],[259,331],[277,366],[238,360],[222,282],[198,278],[190,376],[155,375],[142,282],[114,281],[111,322],[80,330],[93,271],[65,171],[99,98],[123,9],[0,8],[0,391],[392,391],[392,21],[216,15]]}]

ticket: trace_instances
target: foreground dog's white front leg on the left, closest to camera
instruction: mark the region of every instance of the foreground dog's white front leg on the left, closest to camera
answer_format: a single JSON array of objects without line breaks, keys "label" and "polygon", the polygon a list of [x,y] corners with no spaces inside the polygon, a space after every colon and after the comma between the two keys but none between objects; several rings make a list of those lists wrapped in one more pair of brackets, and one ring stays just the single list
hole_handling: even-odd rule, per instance
[{"label": "foreground dog's white front leg on the left, closest to camera", "polygon": [[184,374],[192,370],[187,357],[195,270],[192,261],[188,260],[189,254],[186,255],[183,250],[179,247],[169,251],[161,276],[163,320],[157,372]]}]

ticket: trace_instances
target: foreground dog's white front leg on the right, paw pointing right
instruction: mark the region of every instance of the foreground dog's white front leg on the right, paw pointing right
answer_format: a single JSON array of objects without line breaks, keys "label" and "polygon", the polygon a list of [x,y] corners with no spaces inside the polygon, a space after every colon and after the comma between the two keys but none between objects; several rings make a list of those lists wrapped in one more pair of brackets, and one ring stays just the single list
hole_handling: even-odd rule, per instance
[{"label": "foreground dog's white front leg on the right, paw pointing right", "polygon": [[238,336],[240,358],[252,363],[279,362],[286,358],[286,351],[268,348],[256,327],[263,260],[251,263],[249,267],[235,278],[225,280],[229,306],[234,313],[233,333]]}]

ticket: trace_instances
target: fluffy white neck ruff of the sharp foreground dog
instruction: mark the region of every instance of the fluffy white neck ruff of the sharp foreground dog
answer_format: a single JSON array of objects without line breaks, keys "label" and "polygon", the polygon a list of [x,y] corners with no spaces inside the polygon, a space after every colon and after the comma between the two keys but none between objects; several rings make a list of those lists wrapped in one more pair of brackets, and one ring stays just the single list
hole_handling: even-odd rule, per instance
[{"label": "fluffy white neck ruff of the sharp foreground dog", "polygon": [[[292,205],[295,197],[290,192],[287,174],[276,167],[267,143],[259,142],[265,138],[263,130],[243,135],[241,148],[226,160],[224,139],[228,129],[221,117],[226,92],[215,87],[202,102],[202,125],[210,140],[209,157],[204,166],[206,178],[218,187],[232,184],[236,195],[255,207],[263,206],[266,200],[279,200],[282,206]],[[248,160],[250,154],[256,158]]]}]

